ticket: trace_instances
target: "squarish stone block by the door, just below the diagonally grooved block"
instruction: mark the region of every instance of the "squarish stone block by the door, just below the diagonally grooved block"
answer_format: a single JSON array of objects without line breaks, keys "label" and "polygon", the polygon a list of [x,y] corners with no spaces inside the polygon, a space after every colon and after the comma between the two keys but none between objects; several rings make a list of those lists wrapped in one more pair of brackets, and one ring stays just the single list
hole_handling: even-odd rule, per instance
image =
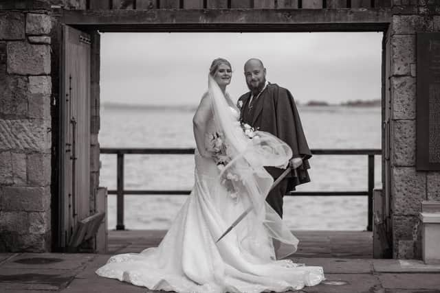
[{"label": "squarish stone block by the door, just below the diagonally grooved block", "polygon": [[50,185],[50,154],[28,154],[26,161],[28,183],[35,186]]}]

